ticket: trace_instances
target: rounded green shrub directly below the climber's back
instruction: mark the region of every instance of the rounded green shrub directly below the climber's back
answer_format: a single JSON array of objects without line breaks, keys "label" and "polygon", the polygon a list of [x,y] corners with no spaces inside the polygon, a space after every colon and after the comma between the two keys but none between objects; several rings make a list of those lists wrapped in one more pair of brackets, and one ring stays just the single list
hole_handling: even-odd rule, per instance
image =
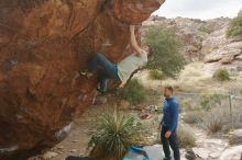
[{"label": "rounded green shrub directly below the climber's back", "polygon": [[119,93],[121,99],[136,105],[146,99],[145,89],[138,79],[131,80]]}]

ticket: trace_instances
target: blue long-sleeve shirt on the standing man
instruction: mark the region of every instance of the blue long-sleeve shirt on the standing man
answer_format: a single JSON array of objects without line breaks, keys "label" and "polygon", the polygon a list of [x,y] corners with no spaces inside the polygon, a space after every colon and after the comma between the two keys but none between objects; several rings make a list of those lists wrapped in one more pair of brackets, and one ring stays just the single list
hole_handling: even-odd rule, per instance
[{"label": "blue long-sleeve shirt on the standing man", "polygon": [[178,103],[176,98],[167,98],[163,105],[162,125],[173,132],[178,124]]}]

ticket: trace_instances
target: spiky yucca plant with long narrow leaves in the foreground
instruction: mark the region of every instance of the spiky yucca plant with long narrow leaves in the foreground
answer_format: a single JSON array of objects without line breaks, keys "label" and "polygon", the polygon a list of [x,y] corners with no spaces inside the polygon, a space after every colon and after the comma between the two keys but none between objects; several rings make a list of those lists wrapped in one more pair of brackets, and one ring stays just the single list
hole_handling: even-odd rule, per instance
[{"label": "spiky yucca plant with long narrow leaves in the foreground", "polygon": [[107,112],[97,118],[96,134],[91,135],[89,146],[96,159],[120,160],[128,148],[139,138],[139,126],[133,115]]}]

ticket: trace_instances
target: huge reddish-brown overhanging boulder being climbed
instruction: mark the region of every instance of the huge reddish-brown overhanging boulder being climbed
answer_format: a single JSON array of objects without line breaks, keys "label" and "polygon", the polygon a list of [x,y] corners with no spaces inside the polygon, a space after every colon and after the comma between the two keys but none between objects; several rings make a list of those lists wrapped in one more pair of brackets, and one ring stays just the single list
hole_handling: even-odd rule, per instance
[{"label": "huge reddish-brown overhanging boulder being climbed", "polygon": [[1,0],[0,159],[53,146],[95,98],[97,79],[78,76],[95,53],[130,54],[129,25],[163,0]]}]

